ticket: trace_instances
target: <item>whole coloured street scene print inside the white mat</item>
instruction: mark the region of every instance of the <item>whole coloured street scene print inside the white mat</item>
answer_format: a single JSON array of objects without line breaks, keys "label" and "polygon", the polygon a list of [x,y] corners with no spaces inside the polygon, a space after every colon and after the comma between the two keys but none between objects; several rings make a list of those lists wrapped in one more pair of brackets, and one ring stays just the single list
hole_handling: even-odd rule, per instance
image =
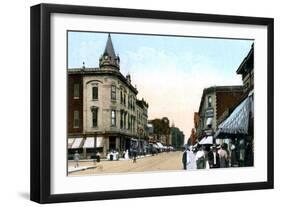
[{"label": "whole coloured street scene print inside the white mat", "polygon": [[254,166],[254,41],[68,32],[67,175]]}]

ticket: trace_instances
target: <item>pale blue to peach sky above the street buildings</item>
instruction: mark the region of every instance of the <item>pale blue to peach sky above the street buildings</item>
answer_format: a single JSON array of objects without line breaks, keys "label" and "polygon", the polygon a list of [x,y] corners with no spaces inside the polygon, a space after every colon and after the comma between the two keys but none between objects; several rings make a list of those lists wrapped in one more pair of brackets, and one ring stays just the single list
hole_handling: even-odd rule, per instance
[{"label": "pale blue to peach sky above the street buildings", "polygon": [[[108,33],[68,32],[68,67],[98,67]],[[149,119],[168,116],[190,135],[202,91],[240,85],[236,70],[253,40],[111,34],[120,71],[131,74],[138,98],[149,103]],[[156,90],[158,89],[158,90]],[[167,99],[169,97],[169,99]]]}]

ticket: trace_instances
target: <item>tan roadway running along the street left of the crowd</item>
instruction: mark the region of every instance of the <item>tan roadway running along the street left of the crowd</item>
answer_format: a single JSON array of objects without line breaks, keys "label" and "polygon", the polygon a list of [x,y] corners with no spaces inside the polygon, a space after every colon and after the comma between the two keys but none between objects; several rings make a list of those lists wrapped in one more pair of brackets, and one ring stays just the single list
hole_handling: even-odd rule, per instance
[{"label": "tan roadway running along the street left of the crowd", "polygon": [[[70,173],[75,175],[93,175],[101,173],[126,173],[126,172],[146,172],[146,171],[162,171],[162,170],[182,170],[182,152],[162,152],[155,156],[149,156],[133,160],[119,161],[101,161],[94,164],[93,162],[80,162],[80,166],[93,167],[94,169],[83,170]],[[69,167],[73,167],[73,162],[69,162]]]}]

